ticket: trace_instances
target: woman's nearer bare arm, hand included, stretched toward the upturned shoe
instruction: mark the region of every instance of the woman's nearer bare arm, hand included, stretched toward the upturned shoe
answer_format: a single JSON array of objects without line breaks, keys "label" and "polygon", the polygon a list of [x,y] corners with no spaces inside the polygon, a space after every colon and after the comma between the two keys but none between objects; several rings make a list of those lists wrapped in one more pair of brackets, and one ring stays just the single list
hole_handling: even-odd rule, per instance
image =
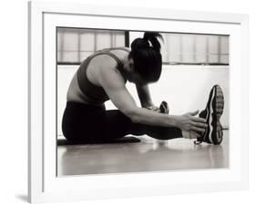
[{"label": "woman's nearer bare arm, hand included, stretched toward the upturned shoe", "polygon": [[148,125],[164,127],[178,127],[182,131],[203,132],[207,125],[205,120],[194,117],[198,112],[188,112],[183,115],[169,115],[152,112],[139,108],[128,92],[122,76],[113,68],[100,69],[99,83],[108,93],[109,99],[118,107],[119,111],[126,114],[131,121]]}]

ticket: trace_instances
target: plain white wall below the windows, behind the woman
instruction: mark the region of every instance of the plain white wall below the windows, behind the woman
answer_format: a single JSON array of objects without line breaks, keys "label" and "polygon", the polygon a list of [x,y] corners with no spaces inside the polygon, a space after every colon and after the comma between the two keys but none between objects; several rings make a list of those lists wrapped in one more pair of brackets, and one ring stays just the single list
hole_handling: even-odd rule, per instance
[{"label": "plain white wall below the windows, behind the woman", "polygon": [[[59,65],[57,72],[57,133],[62,135],[61,119],[66,104],[69,82],[78,66]],[[214,84],[220,84],[225,96],[225,109],[221,117],[224,127],[229,126],[229,68],[225,66],[166,65],[158,83],[151,84],[153,102],[159,105],[169,102],[171,114],[183,114],[205,108],[209,92]],[[128,83],[128,90],[139,105],[134,84]],[[107,102],[107,109],[116,109]]]}]

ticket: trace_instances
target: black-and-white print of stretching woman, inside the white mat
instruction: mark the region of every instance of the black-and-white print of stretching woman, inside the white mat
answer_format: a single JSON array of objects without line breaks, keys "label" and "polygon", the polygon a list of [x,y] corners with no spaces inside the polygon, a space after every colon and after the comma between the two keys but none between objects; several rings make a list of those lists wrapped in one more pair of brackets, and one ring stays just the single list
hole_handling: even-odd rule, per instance
[{"label": "black-and-white print of stretching woman, inside the white mat", "polygon": [[230,36],[56,27],[56,175],[229,168]]}]

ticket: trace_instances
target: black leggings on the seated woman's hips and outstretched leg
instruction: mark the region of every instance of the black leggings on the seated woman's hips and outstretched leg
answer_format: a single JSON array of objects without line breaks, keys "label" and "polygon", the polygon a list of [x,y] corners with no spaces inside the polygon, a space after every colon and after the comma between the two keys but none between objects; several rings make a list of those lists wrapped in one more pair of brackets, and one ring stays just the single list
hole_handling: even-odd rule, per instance
[{"label": "black leggings on the seated woman's hips and outstretched leg", "polygon": [[128,134],[147,134],[159,140],[182,137],[178,128],[134,123],[118,110],[106,111],[104,105],[93,106],[78,102],[67,102],[62,131],[68,141],[78,143],[113,141]]}]

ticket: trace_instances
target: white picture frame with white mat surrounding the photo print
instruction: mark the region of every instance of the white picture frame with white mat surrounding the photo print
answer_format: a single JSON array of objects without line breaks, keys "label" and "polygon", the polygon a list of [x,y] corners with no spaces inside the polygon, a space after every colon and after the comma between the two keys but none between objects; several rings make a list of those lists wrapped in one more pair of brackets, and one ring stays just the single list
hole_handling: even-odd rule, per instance
[{"label": "white picture frame with white mat surrounding the photo print", "polygon": [[[131,12],[132,11],[132,12]],[[85,21],[85,19],[90,21]],[[115,21],[115,24],[113,22]],[[83,22],[83,23],[82,23]],[[230,34],[230,168],[97,176],[56,177],[55,92],[56,75],[47,67],[56,62],[51,36],[59,24],[74,27],[125,28],[141,22],[167,24],[179,31]],[[110,22],[110,23],[109,23]],[[132,22],[132,23],[129,23]],[[101,24],[101,25],[99,25]],[[211,26],[210,26],[211,25]],[[88,24],[87,24],[88,26]],[[118,27],[117,27],[118,26]],[[145,29],[147,29],[145,25]],[[211,32],[210,32],[211,33]],[[29,180],[31,203],[80,199],[110,199],[169,195],[172,193],[248,189],[249,183],[249,60],[248,15],[172,11],[77,3],[29,2]],[[242,109],[242,111],[241,111]],[[234,114],[234,110],[236,110]],[[241,142],[242,135],[242,142]],[[181,179],[182,178],[182,179]],[[200,179],[199,179],[200,178]],[[149,180],[150,179],[150,180]]]}]

